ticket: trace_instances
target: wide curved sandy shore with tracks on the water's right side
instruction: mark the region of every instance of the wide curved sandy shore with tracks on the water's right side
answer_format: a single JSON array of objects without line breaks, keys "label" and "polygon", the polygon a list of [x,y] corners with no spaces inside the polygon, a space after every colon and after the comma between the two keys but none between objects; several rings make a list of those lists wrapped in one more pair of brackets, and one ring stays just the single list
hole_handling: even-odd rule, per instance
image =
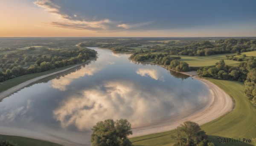
[{"label": "wide curved sandy shore with tracks on the water's right side", "polygon": [[202,125],[232,111],[233,100],[226,92],[208,80],[201,79],[199,77],[193,78],[202,81],[210,90],[209,98],[211,98],[211,102],[208,106],[201,111],[192,109],[178,115],[166,117],[165,119],[158,120],[153,123],[140,125],[132,129],[134,134],[131,137],[166,132],[177,128],[177,126],[186,120],[191,120]]}]

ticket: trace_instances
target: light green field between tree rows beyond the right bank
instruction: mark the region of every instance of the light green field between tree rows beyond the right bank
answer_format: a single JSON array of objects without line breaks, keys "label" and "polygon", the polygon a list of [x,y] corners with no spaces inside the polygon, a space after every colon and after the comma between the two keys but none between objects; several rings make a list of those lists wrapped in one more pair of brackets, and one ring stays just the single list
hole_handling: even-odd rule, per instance
[{"label": "light green field between tree rows beyond the right bank", "polygon": [[189,66],[201,67],[201,66],[214,66],[215,63],[218,63],[219,60],[224,59],[226,65],[236,65],[239,64],[239,61],[226,60],[226,55],[233,54],[216,54],[211,56],[184,56],[184,55],[170,55],[170,56],[179,56],[181,57],[180,61],[185,61]]}]

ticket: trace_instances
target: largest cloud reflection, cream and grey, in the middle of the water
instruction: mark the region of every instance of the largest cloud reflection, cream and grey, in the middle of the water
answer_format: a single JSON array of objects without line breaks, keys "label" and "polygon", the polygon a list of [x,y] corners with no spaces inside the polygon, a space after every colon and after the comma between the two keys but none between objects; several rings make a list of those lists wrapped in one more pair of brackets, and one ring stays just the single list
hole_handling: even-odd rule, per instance
[{"label": "largest cloud reflection, cream and grey, in the middle of the water", "polygon": [[184,112],[204,104],[202,99],[206,99],[205,94],[191,96],[185,100],[175,93],[157,87],[148,89],[128,80],[106,81],[62,101],[53,110],[53,117],[62,127],[76,126],[81,131],[108,118],[125,118],[136,125]]}]

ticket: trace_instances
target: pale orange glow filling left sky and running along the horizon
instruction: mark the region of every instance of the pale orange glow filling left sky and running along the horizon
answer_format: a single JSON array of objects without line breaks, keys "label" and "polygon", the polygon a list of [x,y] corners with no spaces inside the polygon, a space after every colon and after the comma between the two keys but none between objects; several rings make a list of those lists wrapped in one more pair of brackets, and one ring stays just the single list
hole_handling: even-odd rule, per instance
[{"label": "pale orange glow filling left sky and running along the horizon", "polygon": [[58,15],[50,14],[29,1],[0,1],[0,14],[0,37],[256,37],[255,30],[246,28],[239,31],[195,28],[104,32],[60,28],[49,24],[60,20]]}]

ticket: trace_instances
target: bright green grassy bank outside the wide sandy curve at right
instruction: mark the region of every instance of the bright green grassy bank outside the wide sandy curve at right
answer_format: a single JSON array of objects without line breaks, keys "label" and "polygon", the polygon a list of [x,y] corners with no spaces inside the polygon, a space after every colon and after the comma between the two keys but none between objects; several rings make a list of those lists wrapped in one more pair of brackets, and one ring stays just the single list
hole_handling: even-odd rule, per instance
[{"label": "bright green grassy bank outside the wide sandy curve at right", "polygon": [[[233,139],[256,137],[256,107],[244,95],[244,85],[237,81],[215,80],[207,78],[215,85],[223,89],[236,102],[235,109],[201,128],[209,135],[209,141],[217,146],[250,146],[248,143],[218,143],[217,137],[227,137]],[[141,137],[131,138],[135,146],[172,146],[174,140],[171,135],[175,135],[175,130],[169,132],[156,133]]]}]

